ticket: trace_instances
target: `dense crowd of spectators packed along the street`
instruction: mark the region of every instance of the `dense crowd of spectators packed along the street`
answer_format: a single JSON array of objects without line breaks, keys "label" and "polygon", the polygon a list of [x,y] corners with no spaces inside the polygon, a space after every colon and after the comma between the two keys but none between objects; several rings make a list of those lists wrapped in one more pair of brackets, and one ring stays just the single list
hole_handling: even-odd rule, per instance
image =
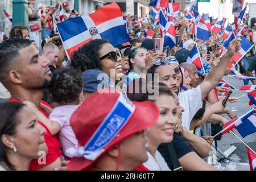
[{"label": "dense crowd of spectators packed along the street", "polygon": [[[226,68],[240,50],[239,39],[217,56],[221,39],[216,34],[197,39],[183,20],[176,26],[181,39],[168,55],[166,47],[154,52],[160,28],[153,19],[144,23],[127,15],[130,42],[114,47],[108,40],[91,40],[68,60],[49,23],[59,5],[36,9],[35,0],[28,2],[29,26],[38,23],[42,9],[42,38],[49,39],[39,50],[40,30],[15,26],[0,44],[1,92],[8,98],[0,104],[0,171],[217,170],[204,160],[213,137],[193,131],[205,123],[225,125],[223,114],[237,117],[222,105],[228,88],[218,83],[230,73]],[[80,16],[67,2],[63,8],[64,19]],[[145,30],[151,39],[143,37]],[[187,63],[195,43],[201,69]],[[256,59],[249,59],[251,54],[240,68],[250,75]]]}]

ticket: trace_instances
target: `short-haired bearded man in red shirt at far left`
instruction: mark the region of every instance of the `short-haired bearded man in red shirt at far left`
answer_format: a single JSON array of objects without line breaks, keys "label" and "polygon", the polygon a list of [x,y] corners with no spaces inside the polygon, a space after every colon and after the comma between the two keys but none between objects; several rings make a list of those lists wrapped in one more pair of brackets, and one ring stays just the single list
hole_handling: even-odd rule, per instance
[{"label": "short-haired bearded man in red shirt at far left", "polygon": [[[51,107],[43,98],[43,89],[51,80],[48,68],[49,60],[39,55],[38,50],[27,39],[10,39],[0,44],[0,81],[10,91],[10,102],[33,102],[48,117],[42,107]],[[52,136],[46,126],[44,139],[48,147],[47,154],[40,154],[32,160],[30,170],[53,170],[61,167],[60,142]]]}]

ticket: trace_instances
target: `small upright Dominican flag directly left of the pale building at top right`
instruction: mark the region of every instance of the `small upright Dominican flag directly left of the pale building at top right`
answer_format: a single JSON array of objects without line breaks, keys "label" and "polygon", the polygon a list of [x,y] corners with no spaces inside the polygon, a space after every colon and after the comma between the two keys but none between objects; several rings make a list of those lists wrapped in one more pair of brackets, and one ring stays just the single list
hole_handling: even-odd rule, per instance
[{"label": "small upright Dominican flag directly left of the pale building at top right", "polygon": [[209,31],[207,25],[204,22],[204,19],[201,17],[199,12],[194,8],[194,17],[193,17],[193,34],[197,39],[209,40]]}]

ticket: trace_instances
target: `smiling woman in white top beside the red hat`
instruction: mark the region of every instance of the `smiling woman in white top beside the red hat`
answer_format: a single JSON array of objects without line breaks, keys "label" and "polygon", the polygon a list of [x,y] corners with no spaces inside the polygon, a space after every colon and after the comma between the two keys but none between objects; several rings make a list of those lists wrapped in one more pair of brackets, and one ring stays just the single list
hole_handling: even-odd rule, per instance
[{"label": "smiling woman in white top beside the red hat", "polygon": [[[142,101],[143,98],[149,98],[147,94],[134,94],[130,97],[132,101]],[[150,127],[150,133],[147,135],[148,160],[143,165],[150,171],[170,171],[163,156],[157,151],[161,143],[169,143],[173,139],[174,129],[179,122],[179,107],[174,100],[174,92],[165,86],[159,86],[159,96],[153,101],[160,110],[158,120]]]}]

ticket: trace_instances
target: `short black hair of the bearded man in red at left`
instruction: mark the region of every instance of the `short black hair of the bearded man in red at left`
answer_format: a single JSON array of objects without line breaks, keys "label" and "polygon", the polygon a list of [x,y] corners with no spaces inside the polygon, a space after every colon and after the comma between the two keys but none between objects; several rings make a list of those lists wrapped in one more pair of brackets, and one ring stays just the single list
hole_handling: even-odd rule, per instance
[{"label": "short black hair of the bearded man in red at left", "polygon": [[[28,39],[9,39],[0,44],[0,81],[5,80],[9,70],[7,67],[20,56],[19,51],[31,45]],[[16,65],[17,66],[17,65]]]}]

